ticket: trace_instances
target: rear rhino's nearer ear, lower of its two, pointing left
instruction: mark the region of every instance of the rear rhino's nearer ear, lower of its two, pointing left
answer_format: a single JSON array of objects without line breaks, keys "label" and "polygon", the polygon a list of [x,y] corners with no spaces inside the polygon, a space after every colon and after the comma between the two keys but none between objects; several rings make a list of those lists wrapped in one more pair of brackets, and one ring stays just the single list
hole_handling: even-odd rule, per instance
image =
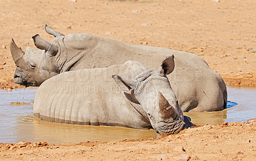
[{"label": "rear rhino's nearer ear, lower of its two, pointing left", "polygon": [[38,49],[47,50],[47,52],[51,54],[51,56],[56,56],[58,52],[58,47],[56,45],[47,42],[46,40],[44,40],[44,38],[41,38],[39,34],[36,34],[32,38]]}]

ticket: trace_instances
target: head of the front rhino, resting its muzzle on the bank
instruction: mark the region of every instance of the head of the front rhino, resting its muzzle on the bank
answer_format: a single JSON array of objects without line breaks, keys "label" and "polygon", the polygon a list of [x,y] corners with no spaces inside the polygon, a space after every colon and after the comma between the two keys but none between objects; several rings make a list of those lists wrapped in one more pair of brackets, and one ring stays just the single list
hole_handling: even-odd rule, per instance
[{"label": "head of the front rhino, resting its muzzle on the bank", "polygon": [[166,75],[173,72],[174,56],[164,59],[157,71],[145,70],[134,79],[113,75],[128,100],[140,104],[152,127],[162,134],[177,134],[185,126],[184,116]]}]

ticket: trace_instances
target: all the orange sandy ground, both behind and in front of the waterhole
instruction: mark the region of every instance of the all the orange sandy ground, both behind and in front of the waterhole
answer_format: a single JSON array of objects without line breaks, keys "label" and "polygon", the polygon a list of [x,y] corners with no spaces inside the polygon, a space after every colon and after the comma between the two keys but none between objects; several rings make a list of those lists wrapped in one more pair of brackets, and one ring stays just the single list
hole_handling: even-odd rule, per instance
[{"label": "all the orange sandy ground, both behind and in front of the waterhole", "polygon": [[[45,24],[64,34],[191,52],[204,57],[227,85],[256,86],[255,0],[8,0],[0,5],[0,88],[19,87],[13,82],[10,38],[22,49],[35,47],[31,36],[37,33],[51,41]],[[37,146],[42,144],[0,144],[0,159],[255,160],[256,124],[207,125],[157,140]]]}]

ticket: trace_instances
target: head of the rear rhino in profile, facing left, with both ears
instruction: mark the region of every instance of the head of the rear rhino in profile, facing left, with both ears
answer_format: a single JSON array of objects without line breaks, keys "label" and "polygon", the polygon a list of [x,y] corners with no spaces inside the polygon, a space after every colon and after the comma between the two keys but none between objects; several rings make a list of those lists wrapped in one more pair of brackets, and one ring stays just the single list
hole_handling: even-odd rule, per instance
[{"label": "head of the rear rhino in profile, facing left, with both ears", "polygon": [[13,39],[11,40],[10,50],[17,66],[13,76],[15,83],[24,86],[40,86],[46,79],[60,73],[55,64],[56,55],[60,52],[60,47],[56,43],[64,34],[47,26],[45,26],[45,31],[56,36],[56,39],[49,43],[36,34],[33,40],[38,49],[26,47],[24,52],[17,47]]}]

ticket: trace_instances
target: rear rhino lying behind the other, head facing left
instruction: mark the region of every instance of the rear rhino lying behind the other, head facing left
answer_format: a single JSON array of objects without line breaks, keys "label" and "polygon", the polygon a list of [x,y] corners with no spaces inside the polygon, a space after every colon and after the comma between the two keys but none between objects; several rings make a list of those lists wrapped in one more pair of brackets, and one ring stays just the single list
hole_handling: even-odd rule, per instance
[{"label": "rear rhino lying behind the other, head facing left", "polygon": [[111,38],[92,34],[58,33],[51,43],[40,38],[33,40],[38,49],[23,52],[14,41],[10,49],[17,65],[14,81],[25,86],[40,86],[42,82],[62,72],[84,68],[102,68],[136,60],[153,70],[166,56],[174,55],[176,67],[168,76],[182,111],[219,111],[227,105],[227,89],[218,73],[209,68],[202,57],[161,47],[130,45]]}]

